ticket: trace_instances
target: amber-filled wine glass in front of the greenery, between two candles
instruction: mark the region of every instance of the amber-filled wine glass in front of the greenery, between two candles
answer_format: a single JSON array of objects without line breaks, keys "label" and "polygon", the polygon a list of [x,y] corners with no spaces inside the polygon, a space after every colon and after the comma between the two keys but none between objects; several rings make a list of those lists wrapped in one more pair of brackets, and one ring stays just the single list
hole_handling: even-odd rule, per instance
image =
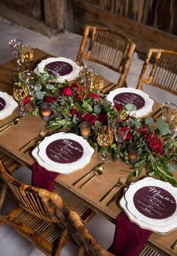
[{"label": "amber-filled wine glass in front of the greenery, between two candles", "polygon": [[108,126],[102,126],[98,133],[98,144],[103,147],[102,152],[98,155],[98,160],[106,162],[110,159],[110,155],[107,153],[107,147],[113,143],[113,129]]}]

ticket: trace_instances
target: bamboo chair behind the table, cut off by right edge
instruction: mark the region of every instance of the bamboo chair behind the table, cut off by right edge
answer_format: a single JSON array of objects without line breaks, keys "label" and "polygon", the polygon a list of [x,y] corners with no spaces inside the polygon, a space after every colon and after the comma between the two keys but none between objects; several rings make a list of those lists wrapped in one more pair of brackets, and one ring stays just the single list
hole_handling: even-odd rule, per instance
[{"label": "bamboo chair behind the table, cut off by right edge", "polygon": [[[151,62],[150,74],[145,78]],[[149,49],[136,88],[142,90],[143,84],[151,84],[177,95],[177,52]]]}]

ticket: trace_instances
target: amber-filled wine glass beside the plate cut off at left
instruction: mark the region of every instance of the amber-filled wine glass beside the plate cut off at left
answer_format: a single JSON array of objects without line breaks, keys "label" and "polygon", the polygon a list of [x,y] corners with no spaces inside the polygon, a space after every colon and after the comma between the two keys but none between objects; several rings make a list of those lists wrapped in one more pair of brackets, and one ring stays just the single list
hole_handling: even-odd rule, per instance
[{"label": "amber-filled wine glass beside the plate cut off at left", "polygon": [[23,100],[28,96],[28,89],[26,84],[15,83],[13,85],[13,97],[19,102],[20,105],[20,116],[26,115],[26,110],[24,109]]}]

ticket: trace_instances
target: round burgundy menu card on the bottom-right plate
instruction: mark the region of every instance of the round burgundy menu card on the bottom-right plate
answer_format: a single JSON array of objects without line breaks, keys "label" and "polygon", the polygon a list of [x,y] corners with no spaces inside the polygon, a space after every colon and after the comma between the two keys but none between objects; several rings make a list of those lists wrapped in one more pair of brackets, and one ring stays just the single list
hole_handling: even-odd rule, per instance
[{"label": "round burgundy menu card on the bottom-right plate", "polygon": [[136,191],[133,196],[136,209],[148,218],[163,219],[176,210],[175,198],[162,187],[147,186]]}]

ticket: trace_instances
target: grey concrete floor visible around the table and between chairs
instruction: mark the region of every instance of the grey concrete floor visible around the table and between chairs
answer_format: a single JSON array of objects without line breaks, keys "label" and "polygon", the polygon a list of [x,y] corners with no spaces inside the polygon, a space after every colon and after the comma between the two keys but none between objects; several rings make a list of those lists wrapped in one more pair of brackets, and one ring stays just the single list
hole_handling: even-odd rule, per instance
[{"label": "grey concrete floor visible around the table and between chairs", "polygon": [[[31,30],[25,29],[22,26],[10,23],[0,17],[0,64],[11,59],[10,47],[7,42],[10,38],[20,38],[24,44],[30,44],[33,47],[38,47],[55,56],[64,56],[75,60],[80,46],[81,36],[66,32],[65,34],[57,35],[52,38],[47,38]],[[132,66],[127,77],[128,87],[136,87],[143,61],[138,59],[137,54],[133,56]],[[117,74],[99,65],[95,67],[95,73],[104,75],[110,81],[117,81]],[[163,90],[153,89],[148,87],[145,90],[153,99],[158,102],[176,102],[177,97],[166,93]],[[28,169],[21,168],[16,174],[21,181],[30,184],[31,172]],[[96,191],[95,191],[96,192]],[[5,211],[13,207],[10,200],[5,202]],[[109,221],[96,215],[95,218],[88,224],[89,230],[105,248],[108,248],[113,242],[114,225]],[[0,227],[0,256],[39,256],[43,255],[37,248],[34,248],[31,243],[23,239],[18,233],[6,225]],[[69,243],[62,250],[62,256],[73,256],[77,252],[77,247]]]}]

